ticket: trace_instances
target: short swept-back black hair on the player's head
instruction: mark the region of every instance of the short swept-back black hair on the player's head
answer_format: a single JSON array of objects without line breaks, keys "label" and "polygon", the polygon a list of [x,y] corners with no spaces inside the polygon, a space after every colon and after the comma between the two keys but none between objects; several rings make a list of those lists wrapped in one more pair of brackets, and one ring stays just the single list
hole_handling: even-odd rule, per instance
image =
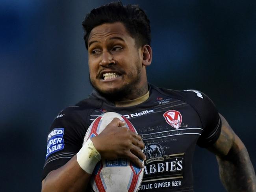
[{"label": "short swept-back black hair on the player's head", "polygon": [[121,2],[112,2],[91,10],[82,22],[85,31],[83,39],[88,49],[91,30],[104,23],[122,22],[137,46],[150,45],[150,21],[146,13],[137,5],[123,6]]}]

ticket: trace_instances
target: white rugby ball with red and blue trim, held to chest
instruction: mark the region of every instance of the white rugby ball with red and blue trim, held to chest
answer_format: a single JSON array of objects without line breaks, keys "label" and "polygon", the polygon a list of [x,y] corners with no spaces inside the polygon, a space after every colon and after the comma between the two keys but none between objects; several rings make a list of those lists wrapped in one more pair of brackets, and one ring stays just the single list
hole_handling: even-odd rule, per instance
[{"label": "white rugby ball with red and blue trim, held to chest", "polygon": [[[98,135],[115,117],[126,122],[125,127],[137,133],[131,122],[124,116],[108,112],[98,116],[92,122],[85,134],[83,144],[89,138]],[[95,192],[136,192],[143,179],[143,171],[144,168],[135,166],[128,159],[102,159],[95,166],[91,176],[91,186]]]}]

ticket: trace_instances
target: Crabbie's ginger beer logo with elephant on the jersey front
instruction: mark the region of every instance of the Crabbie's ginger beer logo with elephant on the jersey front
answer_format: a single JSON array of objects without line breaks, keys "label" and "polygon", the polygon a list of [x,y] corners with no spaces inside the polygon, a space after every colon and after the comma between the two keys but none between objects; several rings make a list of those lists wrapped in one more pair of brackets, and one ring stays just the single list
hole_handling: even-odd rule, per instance
[{"label": "Crabbie's ginger beer logo with elephant on the jersey front", "polygon": [[151,143],[145,146],[143,153],[147,160],[139,191],[182,186],[185,152],[164,155],[166,152],[163,146]]}]

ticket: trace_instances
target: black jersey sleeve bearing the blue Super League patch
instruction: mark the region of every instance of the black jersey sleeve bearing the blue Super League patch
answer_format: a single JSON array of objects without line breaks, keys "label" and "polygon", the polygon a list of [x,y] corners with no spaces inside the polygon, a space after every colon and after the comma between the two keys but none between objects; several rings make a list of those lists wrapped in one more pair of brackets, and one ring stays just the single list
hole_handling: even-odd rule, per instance
[{"label": "black jersey sleeve bearing the blue Super League patch", "polygon": [[87,127],[81,114],[73,108],[61,111],[50,127],[42,180],[49,172],[66,164],[82,147]]}]

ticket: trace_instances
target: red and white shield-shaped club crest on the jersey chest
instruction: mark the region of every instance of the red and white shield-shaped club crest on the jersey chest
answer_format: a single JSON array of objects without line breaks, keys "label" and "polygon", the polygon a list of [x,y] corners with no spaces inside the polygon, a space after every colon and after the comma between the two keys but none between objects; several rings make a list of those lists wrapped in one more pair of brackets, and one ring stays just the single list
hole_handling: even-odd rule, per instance
[{"label": "red and white shield-shaped club crest on the jersey chest", "polygon": [[165,118],[165,121],[175,129],[178,129],[180,127],[180,124],[182,122],[182,116],[180,112],[175,110],[169,110],[163,114],[163,117]]}]

